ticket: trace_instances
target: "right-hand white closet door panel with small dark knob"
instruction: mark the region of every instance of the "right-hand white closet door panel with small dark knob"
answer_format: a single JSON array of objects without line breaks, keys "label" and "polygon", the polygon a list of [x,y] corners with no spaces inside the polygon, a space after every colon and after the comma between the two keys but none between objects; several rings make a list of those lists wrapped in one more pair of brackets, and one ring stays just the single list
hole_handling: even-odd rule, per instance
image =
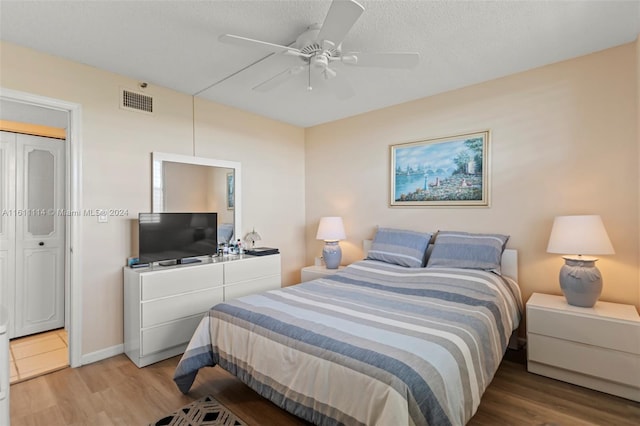
[{"label": "right-hand white closet door panel with small dark knob", "polygon": [[64,326],[64,141],[17,135],[15,335]]}]

